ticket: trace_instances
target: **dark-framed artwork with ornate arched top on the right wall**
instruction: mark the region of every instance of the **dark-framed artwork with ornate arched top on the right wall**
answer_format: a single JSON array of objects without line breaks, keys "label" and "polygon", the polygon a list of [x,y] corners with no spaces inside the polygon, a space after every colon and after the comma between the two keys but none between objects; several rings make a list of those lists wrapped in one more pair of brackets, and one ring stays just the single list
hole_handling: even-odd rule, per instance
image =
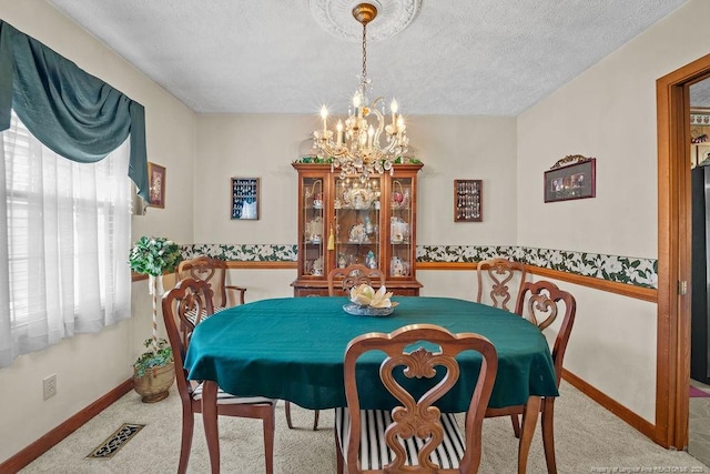
[{"label": "dark-framed artwork with ornate arched top on the right wall", "polygon": [[596,158],[570,154],[545,172],[545,202],[594,198],[596,195]]}]

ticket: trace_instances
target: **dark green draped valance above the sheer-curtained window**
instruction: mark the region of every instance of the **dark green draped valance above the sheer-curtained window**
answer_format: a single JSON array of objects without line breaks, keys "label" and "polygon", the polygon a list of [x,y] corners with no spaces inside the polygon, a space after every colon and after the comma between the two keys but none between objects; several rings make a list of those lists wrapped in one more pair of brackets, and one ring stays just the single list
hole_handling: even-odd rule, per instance
[{"label": "dark green draped valance above the sheer-curtained window", "polygon": [[83,163],[130,134],[129,177],[149,200],[143,105],[0,20],[0,131],[11,109],[44,145]]}]

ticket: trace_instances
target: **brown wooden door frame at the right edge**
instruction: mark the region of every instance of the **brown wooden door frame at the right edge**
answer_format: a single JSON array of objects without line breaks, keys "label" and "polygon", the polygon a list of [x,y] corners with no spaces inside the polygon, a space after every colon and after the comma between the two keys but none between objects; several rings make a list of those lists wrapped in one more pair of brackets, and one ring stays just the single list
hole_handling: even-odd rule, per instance
[{"label": "brown wooden door frame at the right edge", "polygon": [[[658,125],[658,329],[656,442],[688,446],[690,386],[689,85],[710,73],[710,54],[656,81]],[[679,295],[680,282],[688,293]]]}]

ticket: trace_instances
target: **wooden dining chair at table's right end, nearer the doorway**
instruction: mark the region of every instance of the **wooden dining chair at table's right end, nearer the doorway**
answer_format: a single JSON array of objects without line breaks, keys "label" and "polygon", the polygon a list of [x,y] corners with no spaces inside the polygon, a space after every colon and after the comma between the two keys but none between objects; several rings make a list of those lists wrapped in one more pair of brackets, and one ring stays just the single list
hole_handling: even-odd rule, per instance
[{"label": "wooden dining chair at table's right end, nearer the doorway", "polygon": [[[555,283],[540,280],[538,282],[525,282],[520,289],[516,302],[516,314],[527,319],[537,325],[540,331],[549,327],[560,315],[561,322],[557,330],[555,344],[552,346],[552,362],[557,376],[557,387],[562,377],[562,359],[569,342],[569,335],[575,323],[577,302],[571,293],[560,290]],[[555,396],[545,397],[540,404],[542,446],[545,448],[545,462],[549,474],[557,473],[557,462],[555,460]],[[523,405],[509,406],[505,409],[490,409],[486,412],[486,417],[510,415],[513,430],[516,437],[520,437],[520,415]]]}]

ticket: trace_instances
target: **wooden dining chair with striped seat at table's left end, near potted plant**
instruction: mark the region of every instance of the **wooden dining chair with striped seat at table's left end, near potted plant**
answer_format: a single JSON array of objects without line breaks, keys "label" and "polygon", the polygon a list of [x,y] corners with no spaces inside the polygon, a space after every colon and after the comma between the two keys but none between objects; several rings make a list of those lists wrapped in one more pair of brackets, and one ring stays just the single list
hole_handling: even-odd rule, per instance
[{"label": "wooden dining chair with striped seat at table's left end, near potted plant", "polygon": [[[178,473],[187,471],[195,413],[202,413],[202,383],[187,380],[183,369],[185,353],[195,325],[187,314],[196,315],[196,323],[202,315],[213,314],[212,290],[202,280],[185,279],[163,295],[163,320],[170,346],[173,350],[178,393],[182,402],[182,441],[180,445],[180,463]],[[182,334],[181,334],[182,333]],[[274,431],[276,401],[262,396],[242,397],[217,390],[217,415],[261,418],[264,424],[264,456],[266,473],[274,471]]]}]

